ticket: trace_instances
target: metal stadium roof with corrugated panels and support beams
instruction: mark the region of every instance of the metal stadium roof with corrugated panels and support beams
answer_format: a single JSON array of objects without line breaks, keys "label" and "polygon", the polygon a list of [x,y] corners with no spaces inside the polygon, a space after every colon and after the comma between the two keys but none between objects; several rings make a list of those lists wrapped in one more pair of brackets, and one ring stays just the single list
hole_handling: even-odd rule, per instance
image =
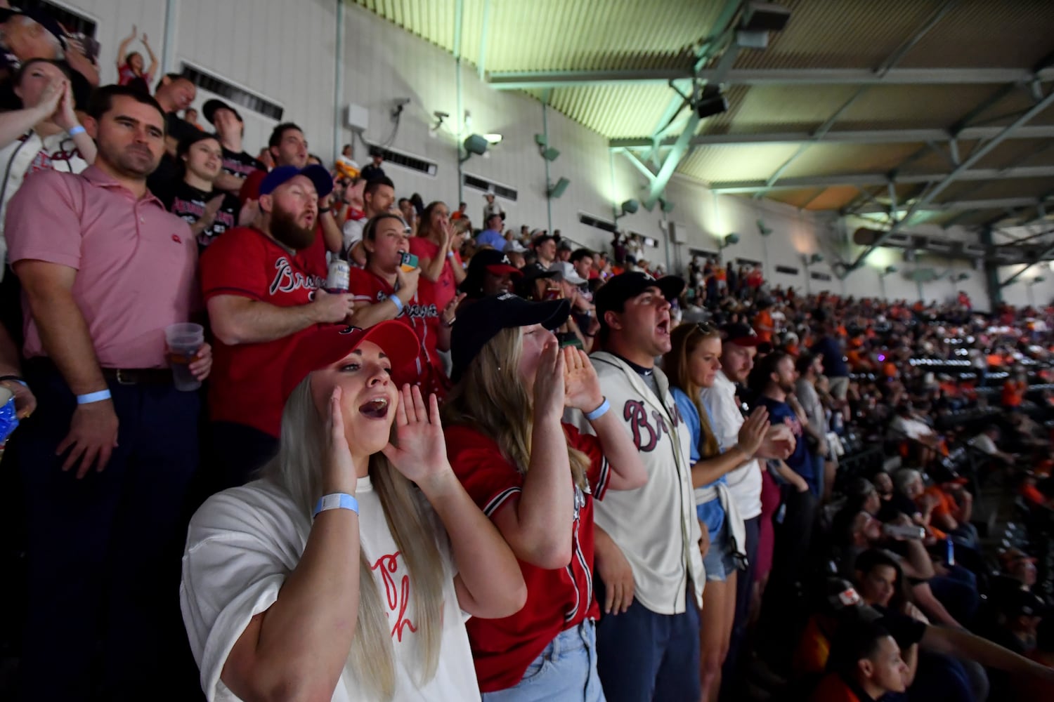
[{"label": "metal stadium roof with corrugated panels and support beams", "polygon": [[650,202],[676,171],[894,230],[1054,210],[1050,0],[779,0],[770,31],[748,0],[355,1],[608,138]]}]

